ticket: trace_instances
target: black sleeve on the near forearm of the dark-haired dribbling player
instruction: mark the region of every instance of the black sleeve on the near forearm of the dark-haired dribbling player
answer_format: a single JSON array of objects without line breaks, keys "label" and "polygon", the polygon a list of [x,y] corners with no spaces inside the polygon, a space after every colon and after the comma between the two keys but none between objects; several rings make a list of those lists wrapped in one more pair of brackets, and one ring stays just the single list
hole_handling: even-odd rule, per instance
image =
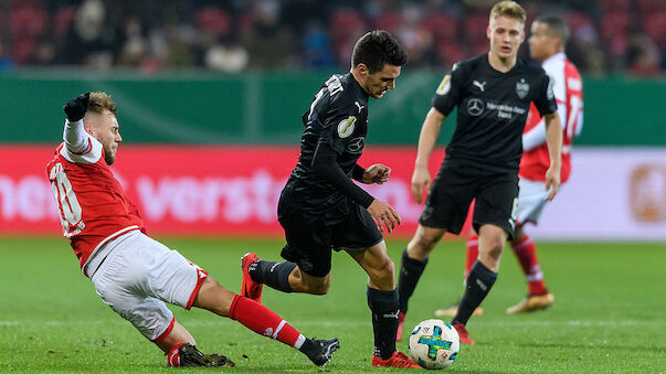
[{"label": "black sleeve on the near forearm of the dark-haired dribbling player", "polygon": [[374,201],[372,195],[353,184],[342,172],[336,162],[336,151],[327,143],[317,145],[317,151],[313,158],[313,171],[325,177],[330,184],[366,209]]}]

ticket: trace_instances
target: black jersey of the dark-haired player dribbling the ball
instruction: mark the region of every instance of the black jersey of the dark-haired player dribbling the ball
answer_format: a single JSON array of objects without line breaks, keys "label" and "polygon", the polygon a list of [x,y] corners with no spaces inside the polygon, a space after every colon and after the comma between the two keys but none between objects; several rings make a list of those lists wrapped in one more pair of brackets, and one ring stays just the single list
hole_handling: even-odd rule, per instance
[{"label": "black jersey of the dark-haired player dribbling the ball", "polygon": [[363,152],[368,132],[368,94],[351,73],[332,75],[315,95],[303,115],[305,131],[300,138],[298,163],[292,171],[283,199],[298,205],[306,214],[335,220],[348,213],[350,199],[324,175],[313,171],[319,145],[337,153],[337,163],[351,178]]}]

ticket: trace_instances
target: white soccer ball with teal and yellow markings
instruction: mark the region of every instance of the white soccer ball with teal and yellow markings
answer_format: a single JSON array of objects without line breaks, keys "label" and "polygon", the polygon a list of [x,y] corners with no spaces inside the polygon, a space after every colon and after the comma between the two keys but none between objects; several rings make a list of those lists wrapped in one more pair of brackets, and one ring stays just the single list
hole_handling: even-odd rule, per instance
[{"label": "white soccer ball with teal and yellow markings", "polygon": [[410,355],[424,368],[446,368],[461,349],[458,332],[448,322],[425,320],[412,330]]}]

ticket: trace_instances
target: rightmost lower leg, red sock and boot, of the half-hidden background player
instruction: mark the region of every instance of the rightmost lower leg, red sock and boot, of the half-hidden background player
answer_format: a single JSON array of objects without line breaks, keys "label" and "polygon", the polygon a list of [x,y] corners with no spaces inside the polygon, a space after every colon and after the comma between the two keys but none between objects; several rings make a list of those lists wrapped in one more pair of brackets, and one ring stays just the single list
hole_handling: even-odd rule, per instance
[{"label": "rightmost lower leg, red sock and boot, of the half-hidden background player", "polygon": [[511,242],[511,248],[525,274],[528,293],[518,304],[508,308],[507,313],[518,314],[550,308],[554,302],[554,296],[548,292],[543,281],[543,273],[537,257],[537,246],[528,235],[522,234],[521,237]]}]

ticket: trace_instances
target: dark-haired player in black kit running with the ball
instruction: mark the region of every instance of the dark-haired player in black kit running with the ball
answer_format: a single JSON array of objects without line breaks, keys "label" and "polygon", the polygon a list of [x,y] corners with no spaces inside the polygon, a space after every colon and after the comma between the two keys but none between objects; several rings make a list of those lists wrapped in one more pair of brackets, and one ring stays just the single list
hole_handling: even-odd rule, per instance
[{"label": "dark-haired player in black kit running with the ball", "polygon": [[368,132],[368,97],[380,98],[394,88],[406,58],[391,34],[372,31],[356,43],[351,72],[321,85],[303,116],[300,156],[277,207],[286,261],[262,260],[252,253],[242,261],[241,295],[251,299],[261,300],[263,284],[284,292],[325,295],[331,249],[346,250],[369,276],[374,366],[419,367],[395,350],[394,266],[380,233],[384,227],[391,232],[400,216],[351,181],[381,184],[389,179],[390,168],[377,163],[364,169],[357,161]]}]

